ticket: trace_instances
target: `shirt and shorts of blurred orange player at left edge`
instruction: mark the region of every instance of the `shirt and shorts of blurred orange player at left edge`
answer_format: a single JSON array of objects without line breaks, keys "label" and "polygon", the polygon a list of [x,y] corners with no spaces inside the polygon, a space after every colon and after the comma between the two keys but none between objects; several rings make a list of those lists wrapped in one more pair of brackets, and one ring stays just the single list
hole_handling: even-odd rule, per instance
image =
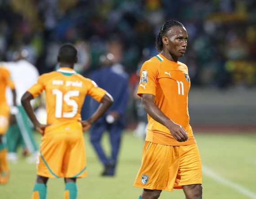
[{"label": "shirt and shorts of blurred orange player at left edge", "polygon": [[10,89],[14,89],[13,81],[10,78],[10,72],[0,67],[0,134],[4,134],[7,131],[9,124],[9,106],[6,102],[5,90],[9,86]]}]

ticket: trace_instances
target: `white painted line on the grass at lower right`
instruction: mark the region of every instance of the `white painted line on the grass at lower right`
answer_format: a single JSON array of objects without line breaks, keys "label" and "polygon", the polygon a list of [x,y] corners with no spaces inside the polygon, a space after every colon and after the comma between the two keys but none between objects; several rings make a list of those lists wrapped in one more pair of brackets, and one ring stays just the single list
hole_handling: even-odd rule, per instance
[{"label": "white painted line on the grass at lower right", "polygon": [[218,175],[214,171],[212,171],[212,169],[209,169],[204,165],[202,165],[202,169],[203,169],[203,174],[207,175],[208,177],[216,180],[217,182],[220,182],[221,184],[229,186],[230,188],[242,193],[243,195],[247,195],[250,199],[256,199],[256,193],[248,190],[247,188],[244,188],[243,186],[241,186],[239,184],[231,182],[230,180],[228,180],[226,178],[221,177],[220,175]]}]

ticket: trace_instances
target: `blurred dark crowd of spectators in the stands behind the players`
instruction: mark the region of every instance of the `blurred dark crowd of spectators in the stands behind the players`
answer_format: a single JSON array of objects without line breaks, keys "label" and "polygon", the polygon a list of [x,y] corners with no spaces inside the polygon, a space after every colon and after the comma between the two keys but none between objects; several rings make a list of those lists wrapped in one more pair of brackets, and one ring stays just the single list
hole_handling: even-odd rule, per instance
[{"label": "blurred dark crowd of spectators in the stands behind the players", "polygon": [[40,73],[57,64],[65,42],[79,51],[76,70],[88,76],[110,52],[138,80],[141,64],[157,54],[154,40],[168,19],[188,31],[180,60],[194,85],[227,88],[256,85],[255,0],[1,0],[0,59],[26,49]]}]

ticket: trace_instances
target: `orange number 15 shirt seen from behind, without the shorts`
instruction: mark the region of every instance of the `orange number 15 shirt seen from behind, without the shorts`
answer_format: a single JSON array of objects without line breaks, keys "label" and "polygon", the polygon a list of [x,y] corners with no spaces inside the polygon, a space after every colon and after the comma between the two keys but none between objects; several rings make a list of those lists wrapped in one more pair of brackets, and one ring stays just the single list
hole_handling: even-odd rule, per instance
[{"label": "orange number 15 shirt seen from behind, without the shorts", "polygon": [[[37,97],[45,90],[47,127],[45,134],[50,131],[81,131],[81,108],[84,98],[88,94],[98,102],[106,94],[106,91],[97,87],[90,79],[87,79],[70,68],[60,68],[63,72],[74,72],[71,76],[65,76],[62,72],[54,71],[41,75],[37,83],[28,92]],[[67,126],[66,126],[67,125]]]}]

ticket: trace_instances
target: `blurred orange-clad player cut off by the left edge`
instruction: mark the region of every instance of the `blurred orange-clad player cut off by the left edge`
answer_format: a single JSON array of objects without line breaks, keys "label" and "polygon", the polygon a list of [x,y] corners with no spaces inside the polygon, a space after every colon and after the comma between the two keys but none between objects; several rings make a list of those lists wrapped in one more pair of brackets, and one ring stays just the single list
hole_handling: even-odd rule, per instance
[{"label": "blurred orange-clad player cut off by the left edge", "polygon": [[[10,78],[10,72],[0,66],[0,184],[9,180],[9,166],[7,162],[7,149],[3,143],[3,136],[9,126],[10,108],[6,102],[5,90],[9,86],[13,93],[13,114],[18,111],[16,107],[16,91],[13,81]],[[16,109],[15,109],[16,108]]]}]

